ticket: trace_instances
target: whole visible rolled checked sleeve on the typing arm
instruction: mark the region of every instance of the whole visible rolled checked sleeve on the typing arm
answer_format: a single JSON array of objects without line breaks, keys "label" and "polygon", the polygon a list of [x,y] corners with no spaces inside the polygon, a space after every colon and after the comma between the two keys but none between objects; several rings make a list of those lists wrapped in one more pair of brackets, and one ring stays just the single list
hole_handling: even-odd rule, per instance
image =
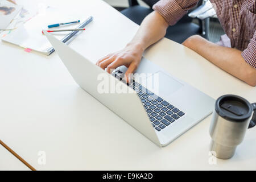
[{"label": "whole visible rolled checked sleeve on the typing arm", "polygon": [[160,0],[155,3],[153,9],[158,11],[169,25],[179,21],[189,9],[196,6],[199,0]]}]

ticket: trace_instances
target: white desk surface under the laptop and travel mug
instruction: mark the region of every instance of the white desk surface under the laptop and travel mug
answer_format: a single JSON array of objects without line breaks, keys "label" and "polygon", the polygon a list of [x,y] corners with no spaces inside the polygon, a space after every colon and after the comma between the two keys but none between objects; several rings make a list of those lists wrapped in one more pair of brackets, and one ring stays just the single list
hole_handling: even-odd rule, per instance
[{"label": "white desk surface under the laptop and travel mug", "polygon": [[[103,1],[72,2],[48,1],[59,9],[69,7],[69,11],[94,16],[70,44],[94,62],[124,47],[138,30],[137,24]],[[211,165],[211,116],[159,148],[82,91],[56,53],[27,53],[3,42],[0,52],[0,137],[38,170],[256,169],[256,127],[248,130],[232,159]],[[238,94],[256,101],[255,88],[171,40],[156,43],[145,57],[215,99]],[[38,164],[39,151],[46,152],[45,165]]]}]

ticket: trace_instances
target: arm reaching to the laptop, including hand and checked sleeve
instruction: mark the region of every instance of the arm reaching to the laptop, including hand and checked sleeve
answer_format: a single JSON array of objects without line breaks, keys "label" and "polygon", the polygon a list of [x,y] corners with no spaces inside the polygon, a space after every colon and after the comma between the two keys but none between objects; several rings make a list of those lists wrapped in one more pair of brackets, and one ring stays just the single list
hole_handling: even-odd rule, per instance
[{"label": "arm reaching to the laptop, including hand and checked sleeve", "polygon": [[154,6],[151,14],[146,16],[133,40],[121,51],[111,53],[98,60],[96,65],[110,73],[111,70],[125,65],[128,69],[125,73],[126,81],[129,74],[133,73],[141,62],[143,51],[162,39],[169,25],[174,25],[187,10],[196,6],[199,0],[161,0]]}]

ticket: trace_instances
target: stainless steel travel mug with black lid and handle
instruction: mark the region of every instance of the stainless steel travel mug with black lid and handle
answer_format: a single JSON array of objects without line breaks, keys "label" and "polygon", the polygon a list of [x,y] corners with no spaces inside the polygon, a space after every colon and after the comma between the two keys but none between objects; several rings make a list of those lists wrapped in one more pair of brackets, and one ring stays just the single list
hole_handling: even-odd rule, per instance
[{"label": "stainless steel travel mug with black lid and handle", "polygon": [[210,151],[220,159],[232,158],[246,130],[256,123],[256,103],[245,98],[225,95],[217,99],[210,123]]}]

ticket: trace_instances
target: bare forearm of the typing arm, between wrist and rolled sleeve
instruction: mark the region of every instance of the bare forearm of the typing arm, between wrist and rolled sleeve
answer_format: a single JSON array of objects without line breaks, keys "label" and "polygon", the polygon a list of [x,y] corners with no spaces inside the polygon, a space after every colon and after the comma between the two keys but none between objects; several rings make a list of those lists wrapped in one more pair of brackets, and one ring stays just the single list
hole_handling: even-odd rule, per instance
[{"label": "bare forearm of the typing arm, between wrist and rolled sleeve", "polygon": [[153,11],[142,22],[137,34],[128,45],[139,46],[142,51],[151,46],[166,35],[168,23],[163,17]]}]

